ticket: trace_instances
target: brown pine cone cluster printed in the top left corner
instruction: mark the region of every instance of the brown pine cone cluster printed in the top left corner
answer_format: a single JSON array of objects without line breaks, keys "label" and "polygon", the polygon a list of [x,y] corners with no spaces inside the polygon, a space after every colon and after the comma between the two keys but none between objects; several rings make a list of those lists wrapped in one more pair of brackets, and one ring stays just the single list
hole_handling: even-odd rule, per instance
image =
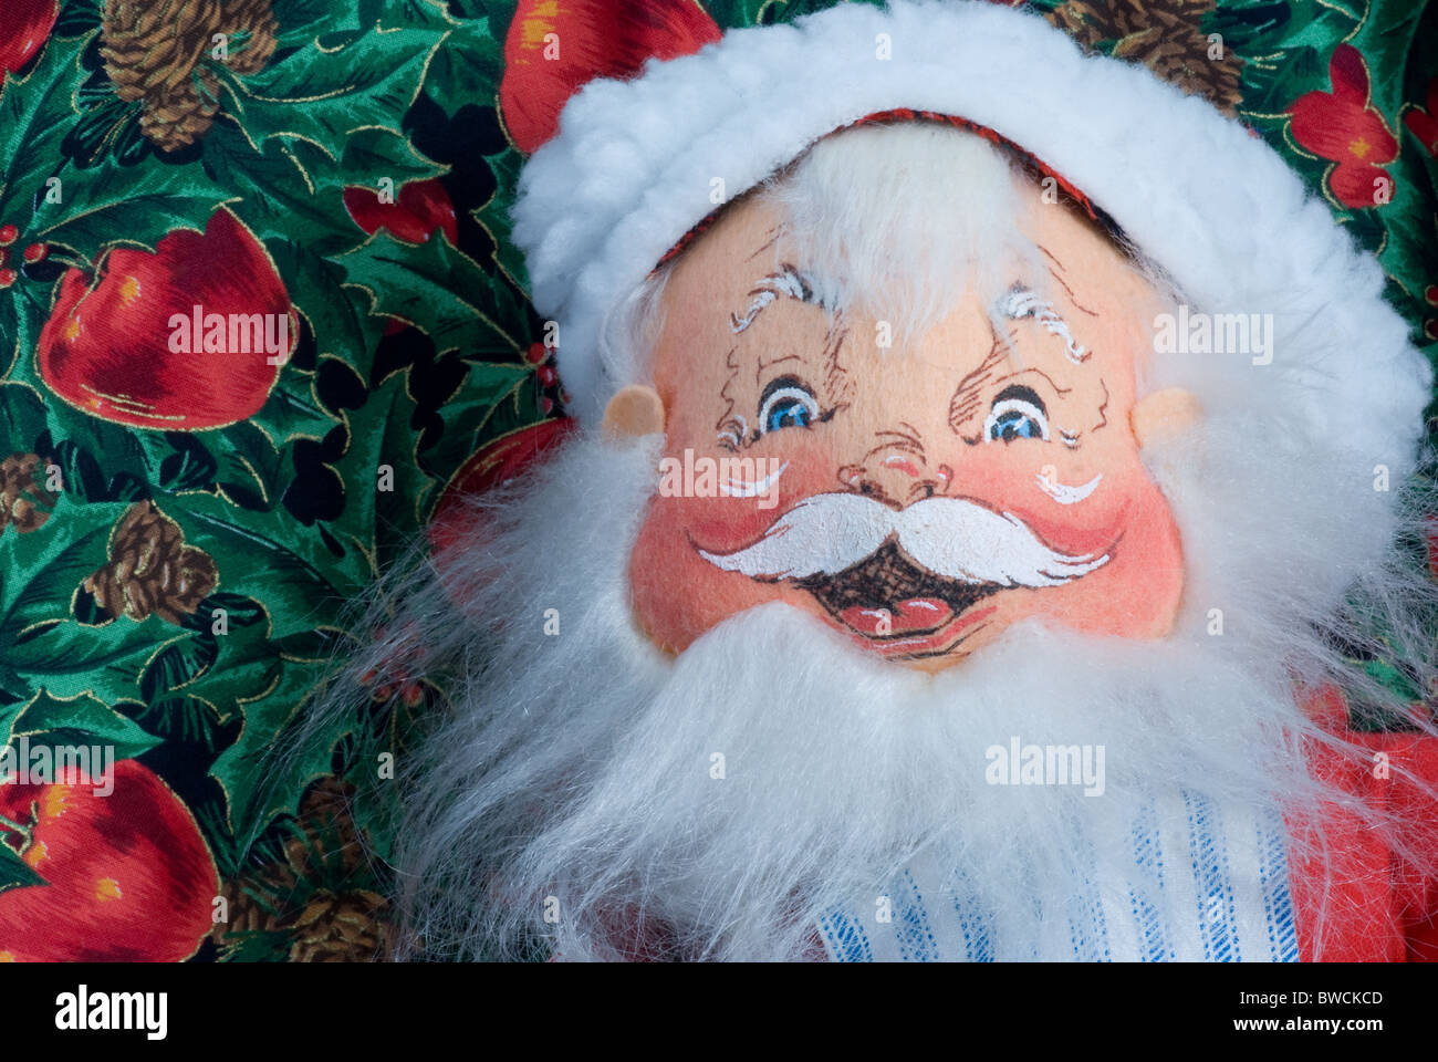
[{"label": "brown pine cone cluster printed in the top left corner", "polygon": [[[279,24],[270,0],[108,0],[101,58],[115,94],[144,101],[139,130],[161,151],[175,151],[209,132],[219,79],[207,65],[256,73],[275,53]],[[214,35],[233,52],[214,59]]]}]

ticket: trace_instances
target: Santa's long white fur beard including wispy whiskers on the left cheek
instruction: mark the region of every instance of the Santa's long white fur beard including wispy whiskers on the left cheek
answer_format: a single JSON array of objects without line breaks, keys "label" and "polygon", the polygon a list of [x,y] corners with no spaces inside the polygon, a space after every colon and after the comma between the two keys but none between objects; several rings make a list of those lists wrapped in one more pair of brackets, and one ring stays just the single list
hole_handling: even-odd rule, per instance
[{"label": "Santa's long white fur beard including wispy whiskers on the left cheek", "polygon": [[[653,443],[575,440],[486,507],[483,543],[443,581],[400,590],[430,656],[460,662],[397,853],[427,950],[617,958],[651,937],[683,958],[812,957],[827,912],[871,911],[922,856],[962,868],[995,958],[1032,957],[1148,802],[1185,790],[1264,813],[1327,796],[1283,656],[1209,636],[1192,586],[1163,642],[1031,622],[935,676],[782,604],[661,655],[626,576]],[[1317,658],[1317,635],[1288,637]],[[1014,738],[1102,747],[1103,793],[991,784],[986,751]]]}]

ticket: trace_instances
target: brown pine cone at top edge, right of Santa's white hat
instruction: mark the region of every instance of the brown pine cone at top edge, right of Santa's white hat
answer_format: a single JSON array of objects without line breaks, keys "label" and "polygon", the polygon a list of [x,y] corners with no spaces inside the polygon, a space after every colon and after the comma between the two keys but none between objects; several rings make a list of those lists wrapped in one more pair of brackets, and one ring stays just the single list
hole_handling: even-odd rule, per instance
[{"label": "brown pine cone at top edge, right of Santa's white hat", "polygon": [[1090,52],[1114,42],[1114,58],[1143,63],[1234,117],[1244,60],[1227,46],[1222,59],[1208,58],[1202,19],[1214,9],[1214,0],[1068,0],[1045,17]]}]

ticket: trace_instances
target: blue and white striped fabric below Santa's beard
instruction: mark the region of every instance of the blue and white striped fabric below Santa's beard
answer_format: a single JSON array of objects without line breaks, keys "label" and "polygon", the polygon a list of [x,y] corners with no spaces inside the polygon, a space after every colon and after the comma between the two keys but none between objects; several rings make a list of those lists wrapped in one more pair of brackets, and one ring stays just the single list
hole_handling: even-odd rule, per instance
[{"label": "blue and white striped fabric below Santa's beard", "polygon": [[1017,920],[1009,911],[1008,925],[1034,927],[1018,948],[999,947],[995,912],[962,869],[925,858],[880,902],[834,911],[820,932],[830,958],[843,963],[1299,960],[1287,835],[1276,810],[1219,809],[1185,791],[1135,814],[1120,848],[1122,856],[1094,858],[1051,912],[1037,899]]}]

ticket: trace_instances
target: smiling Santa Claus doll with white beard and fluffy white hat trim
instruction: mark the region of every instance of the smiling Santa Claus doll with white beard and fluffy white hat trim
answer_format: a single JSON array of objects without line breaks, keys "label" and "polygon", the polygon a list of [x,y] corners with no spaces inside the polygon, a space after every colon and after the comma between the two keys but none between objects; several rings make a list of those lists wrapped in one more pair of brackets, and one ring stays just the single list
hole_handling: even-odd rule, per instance
[{"label": "smiling Santa Claus doll with white beard and fluffy white hat trim", "polygon": [[502,104],[578,430],[354,663],[449,689],[411,951],[1434,954],[1432,717],[1353,662],[1429,688],[1431,373],[1324,204],[1015,10],[551,7]]}]

